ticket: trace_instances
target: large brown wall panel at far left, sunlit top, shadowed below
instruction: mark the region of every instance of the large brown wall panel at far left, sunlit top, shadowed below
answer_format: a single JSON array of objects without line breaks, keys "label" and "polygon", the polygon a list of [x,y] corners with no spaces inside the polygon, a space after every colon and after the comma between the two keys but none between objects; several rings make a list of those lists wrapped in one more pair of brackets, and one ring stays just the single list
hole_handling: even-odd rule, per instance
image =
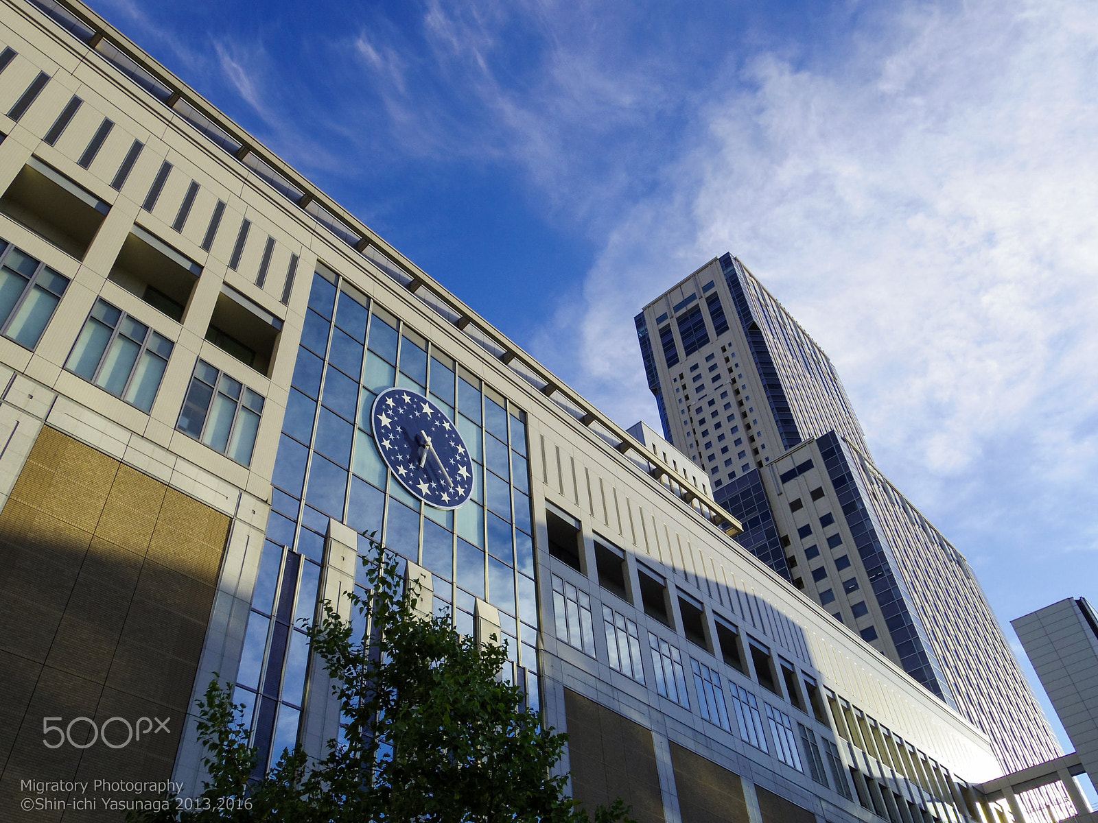
[{"label": "large brown wall panel at far left, sunlit top, shadowed below", "polygon": [[[21,779],[171,776],[228,527],[209,506],[42,429],[0,512],[0,818],[25,797]],[[52,749],[46,717],[63,726],[170,718],[170,734]],[[72,736],[83,743],[88,732],[80,722]],[[125,728],[110,733],[117,743]]]}]

